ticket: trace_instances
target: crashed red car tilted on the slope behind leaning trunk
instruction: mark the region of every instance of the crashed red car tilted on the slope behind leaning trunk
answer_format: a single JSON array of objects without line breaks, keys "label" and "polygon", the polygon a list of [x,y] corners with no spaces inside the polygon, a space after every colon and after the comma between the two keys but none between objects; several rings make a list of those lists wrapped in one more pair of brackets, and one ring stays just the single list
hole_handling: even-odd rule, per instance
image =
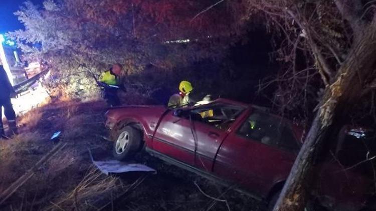
[{"label": "crashed red car tilted on the slope behind leaning trunk", "polygon": [[[228,99],[176,109],[115,107],[106,116],[117,159],[145,148],[162,160],[267,201],[278,197],[302,144],[302,129],[290,120]],[[321,204],[334,210],[366,205],[372,181],[355,168],[326,159],[314,193]]]}]

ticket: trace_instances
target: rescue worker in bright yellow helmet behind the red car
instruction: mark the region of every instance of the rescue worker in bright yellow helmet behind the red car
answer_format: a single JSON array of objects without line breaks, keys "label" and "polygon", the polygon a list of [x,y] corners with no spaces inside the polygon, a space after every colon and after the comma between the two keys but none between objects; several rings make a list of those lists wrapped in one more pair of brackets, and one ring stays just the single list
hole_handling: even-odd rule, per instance
[{"label": "rescue worker in bright yellow helmet behind the red car", "polygon": [[168,100],[168,107],[176,108],[186,106],[192,101],[189,94],[193,90],[192,83],[190,81],[183,80],[179,84],[179,93],[173,94]]}]

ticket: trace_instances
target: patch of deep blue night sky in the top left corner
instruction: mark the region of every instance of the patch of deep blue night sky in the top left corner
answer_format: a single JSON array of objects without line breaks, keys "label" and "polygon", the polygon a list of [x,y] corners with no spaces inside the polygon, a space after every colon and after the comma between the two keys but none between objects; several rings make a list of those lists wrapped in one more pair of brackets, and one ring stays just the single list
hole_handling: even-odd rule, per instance
[{"label": "patch of deep blue night sky in the top left corner", "polygon": [[[13,13],[20,8],[25,0],[0,0],[0,33],[23,28],[21,22]],[[31,0],[33,3],[42,5],[43,0]]]}]

